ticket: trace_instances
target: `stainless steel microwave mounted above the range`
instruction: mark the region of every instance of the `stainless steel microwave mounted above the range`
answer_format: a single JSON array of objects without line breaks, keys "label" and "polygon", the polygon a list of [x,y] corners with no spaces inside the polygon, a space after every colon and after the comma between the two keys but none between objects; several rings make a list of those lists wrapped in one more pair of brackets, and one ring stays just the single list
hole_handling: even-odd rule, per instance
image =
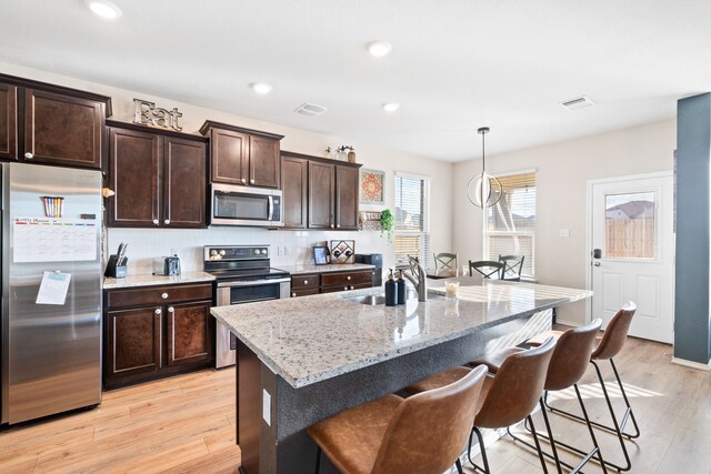
[{"label": "stainless steel microwave mounted above the range", "polygon": [[281,190],[212,184],[212,224],[278,228],[284,224],[282,209]]}]

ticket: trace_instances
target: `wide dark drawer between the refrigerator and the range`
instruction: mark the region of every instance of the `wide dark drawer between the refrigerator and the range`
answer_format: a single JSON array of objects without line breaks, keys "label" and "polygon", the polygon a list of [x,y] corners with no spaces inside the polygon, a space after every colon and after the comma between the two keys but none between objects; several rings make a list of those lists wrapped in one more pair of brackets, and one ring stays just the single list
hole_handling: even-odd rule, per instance
[{"label": "wide dark drawer between the refrigerator and the range", "polygon": [[144,286],[131,290],[110,290],[107,295],[107,306],[128,307],[211,299],[212,284],[210,283]]}]

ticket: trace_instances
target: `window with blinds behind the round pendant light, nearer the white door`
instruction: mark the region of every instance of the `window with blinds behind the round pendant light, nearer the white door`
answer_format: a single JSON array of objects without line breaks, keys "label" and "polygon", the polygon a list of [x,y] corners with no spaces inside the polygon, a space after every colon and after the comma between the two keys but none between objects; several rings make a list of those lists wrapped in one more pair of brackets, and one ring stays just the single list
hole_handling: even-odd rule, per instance
[{"label": "window with blinds behind the round pendant light, nearer the white door", "polygon": [[534,276],[535,172],[499,177],[501,200],[484,213],[484,260],[523,255],[522,276]]}]

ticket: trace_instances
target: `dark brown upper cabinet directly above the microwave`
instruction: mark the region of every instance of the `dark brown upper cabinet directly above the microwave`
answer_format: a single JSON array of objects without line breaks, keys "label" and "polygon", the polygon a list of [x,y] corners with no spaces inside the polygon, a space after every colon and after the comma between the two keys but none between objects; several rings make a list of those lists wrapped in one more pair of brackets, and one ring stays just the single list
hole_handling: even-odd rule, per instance
[{"label": "dark brown upper cabinet directly above the microwave", "polygon": [[206,121],[200,133],[210,139],[213,183],[276,188],[279,145],[283,135]]}]

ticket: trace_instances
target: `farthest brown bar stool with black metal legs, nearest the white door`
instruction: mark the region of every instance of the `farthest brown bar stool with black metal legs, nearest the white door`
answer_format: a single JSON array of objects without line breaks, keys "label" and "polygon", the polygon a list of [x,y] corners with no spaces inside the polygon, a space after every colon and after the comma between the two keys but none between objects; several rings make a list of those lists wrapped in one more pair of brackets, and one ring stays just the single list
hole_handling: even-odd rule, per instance
[{"label": "farthest brown bar stool with black metal legs, nearest the white door", "polygon": [[[612,418],[613,426],[604,425],[604,424],[592,422],[592,421],[590,422],[590,424],[599,428],[612,432],[617,435],[618,441],[620,443],[620,447],[622,448],[622,454],[624,455],[625,466],[619,466],[609,461],[605,461],[604,463],[609,467],[612,467],[618,471],[629,471],[630,468],[632,468],[632,461],[630,460],[630,454],[627,451],[624,438],[632,440],[632,438],[639,437],[640,435],[640,428],[639,428],[639,425],[637,424],[634,412],[632,411],[630,401],[627,397],[627,393],[624,392],[624,386],[622,386],[620,374],[618,373],[618,369],[614,365],[614,361],[613,361],[613,357],[618,355],[622,350],[622,347],[624,346],[624,341],[627,340],[627,334],[630,330],[630,324],[632,323],[632,316],[634,316],[635,311],[637,311],[637,305],[632,302],[628,302],[624,306],[622,306],[622,309],[620,309],[614,314],[614,316],[612,316],[612,320],[610,320],[608,327],[602,333],[602,337],[599,339],[598,346],[594,349],[594,351],[590,355],[590,363],[592,364],[593,367],[595,367],[595,373],[598,374],[598,381],[600,382],[600,386],[602,389],[604,400],[608,404],[608,410],[610,411],[610,417]],[[535,337],[531,339],[529,341],[529,344],[531,345],[537,344],[544,337],[550,337],[550,336],[555,337],[558,336],[558,334],[560,334],[559,331],[549,331],[549,332],[541,333]],[[603,360],[610,361],[610,365],[612,366],[612,372],[614,373],[614,377],[618,382],[618,386],[620,387],[620,393],[622,393],[622,399],[624,400],[625,410],[624,410],[624,416],[622,417],[621,423],[618,422],[618,417],[614,414],[614,409],[612,407],[612,402],[610,401],[608,389],[604,385],[602,372],[600,371],[600,366],[597,363],[597,361],[603,361]],[[558,413],[558,414],[568,416],[570,418],[584,422],[584,418],[582,416],[551,406],[548,403],[547,396],[543,396],[543,402],[545,407],[553,413]],[[624,432],[624,427],[627,426],[627,423],[630,421],[630,418],[632,420],[632,424],[634,425],[634,433]],[[562,443],[559,443],[559,444],[563,445]],[[567,447],[571,448],[572,451],[575,451],[579,454],[582,454],[581,450],[578,450],[573,446],[567,446]]]}]

